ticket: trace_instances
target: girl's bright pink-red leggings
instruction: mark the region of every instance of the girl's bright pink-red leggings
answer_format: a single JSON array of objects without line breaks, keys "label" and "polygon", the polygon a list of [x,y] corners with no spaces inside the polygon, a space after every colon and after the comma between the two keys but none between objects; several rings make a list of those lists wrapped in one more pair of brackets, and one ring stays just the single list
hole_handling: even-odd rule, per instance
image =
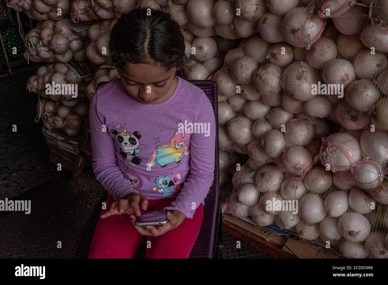
[{"label": "girl's bright pink-red leggings", "polygon": [[[174,200],[175,197],[148,200],[147,211],[163,210],[171,206]],[[108,194],[107,209],[102,210],[100,216],[109,211],[113,201],[112,195]],[[140,211],[143,211],[141,207]],[[88,258],[133,258],[144,237],[151,241],[145,258],[188,258],[201,229],[202,219],[203,204],[200,204],[192,219],[185,218],[177,228],[152,237],[140,235],[128,214],[99,218]]]}]

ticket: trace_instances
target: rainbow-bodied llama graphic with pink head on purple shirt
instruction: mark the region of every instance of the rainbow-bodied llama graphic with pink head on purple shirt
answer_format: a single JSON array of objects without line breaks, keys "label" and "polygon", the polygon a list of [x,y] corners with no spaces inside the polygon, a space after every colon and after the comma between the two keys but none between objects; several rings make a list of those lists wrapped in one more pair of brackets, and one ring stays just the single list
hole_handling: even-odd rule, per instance
[{"label": "rainbow-bodied llama graphic with pink head on purple shirt", "polygon": [[155,152],[150,160],[150,165],[155,166],[155,162],[161,167],[165,167],[167,164],[180,162],[180,157],[183,155],[189,155],[187,152],[187,143],[189,142],[190,135],[185,134],[184,131],[180,133],[175,131],[175,135],[171,138],[170,144],[158,145],[155,148]]}]

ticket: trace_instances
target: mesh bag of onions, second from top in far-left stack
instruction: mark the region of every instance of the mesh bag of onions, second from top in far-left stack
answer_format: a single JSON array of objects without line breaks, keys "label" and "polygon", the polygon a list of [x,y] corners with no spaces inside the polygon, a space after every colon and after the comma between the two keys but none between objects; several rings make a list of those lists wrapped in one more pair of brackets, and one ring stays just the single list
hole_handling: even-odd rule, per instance
[{"label": "mesh bag of onions, second from top in far-left stack", "polygon": [[[69,24],[70,23],[70,24]],[[24,57],[33,62],[83,62],[87,59],[88,24],[74,31],[70,18],[39,22],[24,38]]]}]

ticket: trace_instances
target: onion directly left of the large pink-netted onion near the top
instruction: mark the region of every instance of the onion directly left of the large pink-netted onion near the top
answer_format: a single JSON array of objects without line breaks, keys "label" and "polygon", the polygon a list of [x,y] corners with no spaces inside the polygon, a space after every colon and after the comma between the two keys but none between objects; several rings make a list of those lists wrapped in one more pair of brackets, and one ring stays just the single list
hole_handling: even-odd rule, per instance
[{"label": "onion directly left of the large pink-netted onion near the top", "polygon": [[269,43],[284,41],[282,34],[282,18],[272,13],[264,14],[260,18],[258,30],[260,36]]}]

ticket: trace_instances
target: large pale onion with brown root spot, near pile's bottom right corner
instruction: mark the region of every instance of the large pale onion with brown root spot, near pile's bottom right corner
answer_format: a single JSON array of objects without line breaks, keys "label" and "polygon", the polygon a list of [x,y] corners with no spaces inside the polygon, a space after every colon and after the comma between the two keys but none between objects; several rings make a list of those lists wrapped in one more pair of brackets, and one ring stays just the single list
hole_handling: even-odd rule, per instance
[{"label": "large pale onion with brown root spot, near pile's bottom right corner", "polygon": [[357,212],[348,212],[338,221],[338,230],[341,235],[350,242],[361,242],[371,232],[371,224],[368,219]]}]

